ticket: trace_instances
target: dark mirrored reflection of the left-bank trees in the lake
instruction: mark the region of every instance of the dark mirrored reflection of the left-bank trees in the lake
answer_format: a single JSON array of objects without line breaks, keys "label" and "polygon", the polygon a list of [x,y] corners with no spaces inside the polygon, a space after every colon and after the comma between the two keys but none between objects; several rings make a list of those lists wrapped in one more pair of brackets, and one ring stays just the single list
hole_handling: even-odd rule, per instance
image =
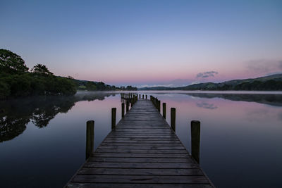
[{"label": "dark mirrored reflection of the left-bank trees in the lake", "polygon": [[67,113],[78,101],[104,100],[114,95],[106,92],[78,92],[74,96],[34,96],[25,99],[0,101],[0,142],[22,134],[32,121],[42,128],[58,113]]}]

